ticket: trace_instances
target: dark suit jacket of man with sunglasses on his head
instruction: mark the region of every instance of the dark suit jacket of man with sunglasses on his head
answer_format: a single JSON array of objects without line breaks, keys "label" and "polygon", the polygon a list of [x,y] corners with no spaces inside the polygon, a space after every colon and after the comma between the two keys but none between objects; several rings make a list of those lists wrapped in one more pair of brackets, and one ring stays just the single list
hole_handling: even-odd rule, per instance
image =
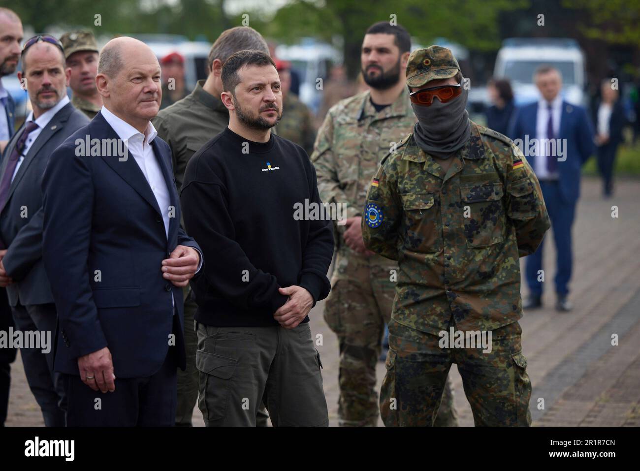
[{"label": "dark suit jacket of man with sunglasses on his head", "polygon": [[[42,172],[52,152],[89,119],[70,103],[51,118],[29,147],[9,187],[6,204],[0,207],[0,237],[8,248],[3,265],[13,283],[6,287],[12,306],[52,303],[51,288],[42,263]],[[0,180],[24,124],[4,149]],[[26,211],[26,214],[25,212]],[[26,216],[26,217],[24,217]]]}]

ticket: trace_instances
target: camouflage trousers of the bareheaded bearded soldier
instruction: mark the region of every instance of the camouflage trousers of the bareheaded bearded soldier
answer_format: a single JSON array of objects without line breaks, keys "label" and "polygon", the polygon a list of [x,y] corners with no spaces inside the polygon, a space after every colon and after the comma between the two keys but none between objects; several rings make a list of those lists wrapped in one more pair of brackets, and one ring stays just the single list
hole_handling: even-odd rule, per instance
[{"label": "camouflage trousers of the bareheaded bearded soldier", "polygon": [[[376,426],[376,364],[396,294],[392,270],[397,272],[397,267],[378,255],[365,257],[347,250],[338,252],[324,307],[324,320],[340,346],[339,424]],[[457,426],[451,383],[445,384],[435,426]]]}]

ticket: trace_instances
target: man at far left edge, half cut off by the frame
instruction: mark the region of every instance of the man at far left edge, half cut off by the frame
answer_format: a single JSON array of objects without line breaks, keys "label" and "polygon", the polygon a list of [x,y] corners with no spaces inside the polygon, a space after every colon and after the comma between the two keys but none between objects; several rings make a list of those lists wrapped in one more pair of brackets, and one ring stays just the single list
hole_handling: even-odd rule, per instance
[{"label": "man at far left edge, half cut off by the frame", "polygon": [[[15,129],[15,102],[4,90],[2,77],[12,75],[20,59],[22,42],[22,22],[12,10],[0,8],[0,156]],[[0,287],[0,331],[8,332],[14,328],[11,307],[6,289]],[[16,349],[0,349],[0,427],[6,420],[11,386],[11,363],[15,360]]]}]

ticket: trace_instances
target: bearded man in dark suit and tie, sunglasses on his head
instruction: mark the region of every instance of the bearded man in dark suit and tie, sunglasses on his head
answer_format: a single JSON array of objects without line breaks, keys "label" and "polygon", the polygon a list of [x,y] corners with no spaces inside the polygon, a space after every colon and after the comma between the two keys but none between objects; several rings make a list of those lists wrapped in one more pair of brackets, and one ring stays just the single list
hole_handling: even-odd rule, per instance
[{"label": "bearded man in dark suit and tie, sunglasses on his head", "polygon": [[[16,328],[44,332],[49,342],[56,331],[56,306],[42,264],[40,179],[54,149],[89,122],[67,97],[62,46],[51,40],[25,43],[18,77],[28,81],[33,111],[9,141],[0,165],[0,285],[6,286]],[[44,349],[25,346],[20,355],[45,425],[64,426],[58,404],[64,390],[53,372],[51,343]]]}]

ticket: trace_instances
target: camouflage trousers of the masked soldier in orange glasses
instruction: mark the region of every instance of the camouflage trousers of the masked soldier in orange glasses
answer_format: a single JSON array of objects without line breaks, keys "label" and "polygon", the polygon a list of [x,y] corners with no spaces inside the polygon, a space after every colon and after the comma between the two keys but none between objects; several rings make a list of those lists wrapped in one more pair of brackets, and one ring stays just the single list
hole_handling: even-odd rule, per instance
[{"label": "camouflage trousers of the masked soldier in orange glasses", "polygon": [[483,353],[482,348],[440,348],[437,335],[392,320],[380,392],[385,426],[433,425],[451,363],[458,365],[476,426],[531,425],[521,333],[517,322],[493,330],[492,349]]}]

